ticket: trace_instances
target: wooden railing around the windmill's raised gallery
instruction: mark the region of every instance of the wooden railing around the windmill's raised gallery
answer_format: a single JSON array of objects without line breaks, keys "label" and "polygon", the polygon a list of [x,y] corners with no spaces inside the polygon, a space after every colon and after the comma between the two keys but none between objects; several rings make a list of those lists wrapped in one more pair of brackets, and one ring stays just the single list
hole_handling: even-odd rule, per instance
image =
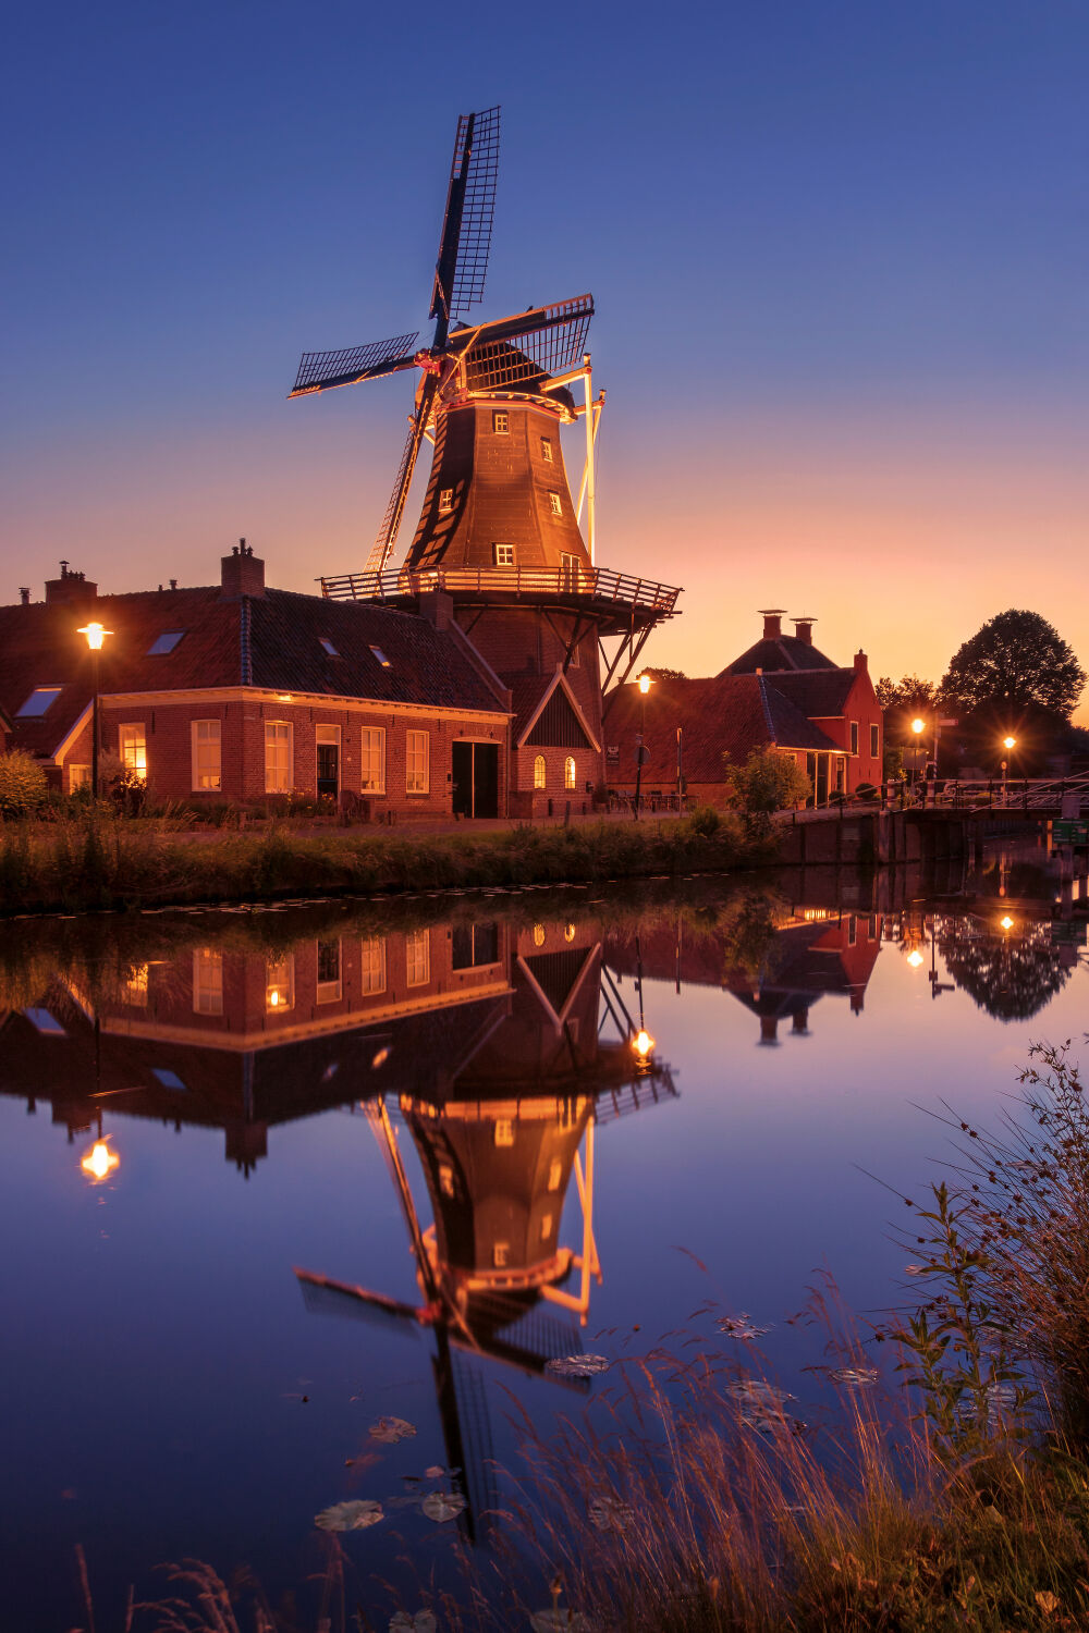
[{"label": "wooden railing around the windmill's raised gallery", "polygon": [[501,594],[586,598],[616,606],[638,607],[669,617],[679,588],[660,585],[607,567],[449,567],[411,572],[407,567],[385,573],[341,573],[320,578],[322,594],[336,601],[402,601],[405,596],[449,590],[459,594]]}]

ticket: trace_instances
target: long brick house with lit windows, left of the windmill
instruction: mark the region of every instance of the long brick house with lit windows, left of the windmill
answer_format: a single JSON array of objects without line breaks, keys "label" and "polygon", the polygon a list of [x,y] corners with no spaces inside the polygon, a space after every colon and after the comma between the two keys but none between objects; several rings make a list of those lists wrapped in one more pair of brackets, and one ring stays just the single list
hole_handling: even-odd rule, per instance
[{"label": "long brick house with lit windows, left of the windmill", "polygon": [[46,599],[0,607],[8,746],[51,782],[90,782],[91,658],[100,745],[157,797],[328,795],[359,815],[506,812],[509,692],[441,594],[420,612],[264,585],[245,541],[220,583],[100,596],[62,563]]}]

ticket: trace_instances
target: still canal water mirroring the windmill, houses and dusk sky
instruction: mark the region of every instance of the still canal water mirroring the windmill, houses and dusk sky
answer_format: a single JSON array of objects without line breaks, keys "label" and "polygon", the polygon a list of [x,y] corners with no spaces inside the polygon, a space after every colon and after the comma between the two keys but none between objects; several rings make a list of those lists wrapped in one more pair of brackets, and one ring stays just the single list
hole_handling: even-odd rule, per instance
[{"label": "still canal water mirroring the windmill, houses and dusk sky", "polygon": [[[918,1194],[927,1109],[993,1122],[1032,1040],[1084,1037],[1056,893],[1030,848],[971,879],[7,926],[5,1626],[87,1625],[77,1545],[100,1630],[183,1558],[279,1600],[322,1568],[315,1515],[367,1497],[387,1519],[343,1542],[385,1626],[377,1576],[411,1604],[503,1525],[516,1403],[547,1426],[598,1388],[549,1360],[709,1300],[772,1328],[805,1399],[815,1274],[898,1297],[869,1176]],[[433,1489],[464,1512],[428,1519]]]}]

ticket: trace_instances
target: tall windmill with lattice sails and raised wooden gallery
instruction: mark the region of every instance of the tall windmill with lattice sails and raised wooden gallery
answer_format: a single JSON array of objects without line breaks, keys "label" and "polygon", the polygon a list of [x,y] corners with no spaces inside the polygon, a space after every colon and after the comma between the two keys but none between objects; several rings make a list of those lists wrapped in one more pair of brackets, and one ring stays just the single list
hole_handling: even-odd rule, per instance
[{"label": "tall windmill with lattice sails and raised wooden gallery", "polygon": [[[483,297],[498,157],[500,109],[462,114],[431,289],[431,345],[420,348],[416,333],[305,353],[291,395],[418,371],[405,451],[366,570],[323,576],[322,593],[405,611],[429,604],[434,616],[457,621],[509,691],[511,764],[501,781],[509,812],[534,815],[549,799],[585,799],[586,784],[602,779],[607,687],[624,683],[651,629],[673,616],[679,590],[596,563],[594,441],[604,394],[593,395],[585,349],[593,299],[460,322]],[[560,429],[580,418],[585,456],[573,498]],[[434,452],[423,509],[403,565],[390,570],[424,438]],[[436,591],[449,601],[438,603]],[[490,815],[487,768],[482,774],[475,761],[462,761],[459,776],[456,761],[454,774],[460,810]]]}]

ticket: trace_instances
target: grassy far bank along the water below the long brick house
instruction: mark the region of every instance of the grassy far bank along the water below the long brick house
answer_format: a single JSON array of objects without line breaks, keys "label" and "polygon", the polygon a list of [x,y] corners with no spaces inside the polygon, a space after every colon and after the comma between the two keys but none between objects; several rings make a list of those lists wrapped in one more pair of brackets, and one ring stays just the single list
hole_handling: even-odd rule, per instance
[{"label": "grassy far bank along the water below the long brick house", "polygon": [[0,825],[0,914],[198,901],[591,883],[754,867],[776,859],[766,823],[696,813],[668,823],[521,825],[504,831],[305,833],[188,838],[157,821],[88,813]]}]

